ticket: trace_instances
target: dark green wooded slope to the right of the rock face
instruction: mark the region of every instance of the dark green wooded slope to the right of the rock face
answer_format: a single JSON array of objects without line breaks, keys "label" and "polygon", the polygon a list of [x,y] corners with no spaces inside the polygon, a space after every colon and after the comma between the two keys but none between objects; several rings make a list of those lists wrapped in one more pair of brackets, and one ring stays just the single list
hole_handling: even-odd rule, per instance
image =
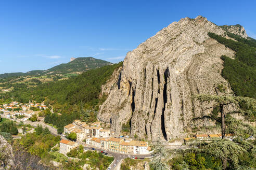
[{"label": "dark green wooded slope to the right of the rock face", "polygon": [[211,38],[236,52],[235,60],[222,56],[222,76],[228,80],[237,96],[256,98],[256,40],[228,32],[227,35],[237,41],[209,33]]}]

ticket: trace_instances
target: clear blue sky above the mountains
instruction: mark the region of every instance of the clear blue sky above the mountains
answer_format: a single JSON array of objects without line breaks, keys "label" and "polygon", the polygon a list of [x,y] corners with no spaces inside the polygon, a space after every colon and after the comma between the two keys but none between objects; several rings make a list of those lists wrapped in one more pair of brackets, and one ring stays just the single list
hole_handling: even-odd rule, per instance
[{"label": "clear blue sky above the mountains", "polygon": [[0,1],[0,74],[47,69],[71,57],[116,63],[163,27],[206,17],[256,39],[256,1]]}]

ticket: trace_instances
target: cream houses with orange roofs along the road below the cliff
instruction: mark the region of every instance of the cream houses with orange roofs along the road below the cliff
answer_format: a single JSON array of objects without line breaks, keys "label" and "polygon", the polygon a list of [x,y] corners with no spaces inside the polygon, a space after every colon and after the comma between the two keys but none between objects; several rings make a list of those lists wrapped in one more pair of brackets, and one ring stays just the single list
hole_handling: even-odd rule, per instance
[{"label": "cream houses with orange roofs along the road below the cliff", "polygon": [[[85,141],[86,144],[109,150],[112,152],[124,154],[148,154],[150,147],[146,141],[132,140],[131,138],[111,137],[113,133],[110,130],[103,129],[100,122],[86,124],[80,120],[75,120],[73,123],[64,127],[64,133],[76,133],[76,140]],[[62,139],[60,141],[60,153],[66,154],[71,149],[78,147],[78,144]]]}]

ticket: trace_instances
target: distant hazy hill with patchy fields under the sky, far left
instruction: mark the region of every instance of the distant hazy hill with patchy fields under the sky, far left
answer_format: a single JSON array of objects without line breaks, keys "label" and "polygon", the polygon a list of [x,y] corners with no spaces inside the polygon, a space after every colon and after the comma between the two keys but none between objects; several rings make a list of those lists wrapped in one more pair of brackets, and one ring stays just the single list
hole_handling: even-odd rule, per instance
[{"label": "distant hazy hill with patchy fields under the sky, far left", "polygon": [[[60,64],[47,70],[32,70],[27,73],[6,73],[0,75],[0,95],[6,91],[23,91],[40,84],[65,80],[90,69],[112,65],[104,60],[92,57],[76,58],[71,62]],[[2,90],[2,91],[1,91]]]}]

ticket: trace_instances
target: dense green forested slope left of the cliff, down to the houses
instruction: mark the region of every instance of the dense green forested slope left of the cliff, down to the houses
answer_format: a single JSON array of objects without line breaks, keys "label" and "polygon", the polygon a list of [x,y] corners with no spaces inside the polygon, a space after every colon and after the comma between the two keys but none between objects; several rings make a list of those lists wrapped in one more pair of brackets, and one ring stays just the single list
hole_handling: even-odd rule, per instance
[{"label": "dense green forested slope left of the cliff, down to the houses", "polygon": [[[63,126],[75,119],[86,118],[88,122],[97,120],[98,105],[106,99],[106,96],[99,97],[101,86],[120,66],[122,66],[122,62],[88,70],[67,80],[11,91],[3,94],[2,98],[13,97],[14,100],[21,103],[28,103],[29,100],[46,101],[46,105],[52,105],[55,114],[46,115],[45,122],[56,125],[58,132],[61,133]],[[58,115],[58,112],[61,115]]]}]

